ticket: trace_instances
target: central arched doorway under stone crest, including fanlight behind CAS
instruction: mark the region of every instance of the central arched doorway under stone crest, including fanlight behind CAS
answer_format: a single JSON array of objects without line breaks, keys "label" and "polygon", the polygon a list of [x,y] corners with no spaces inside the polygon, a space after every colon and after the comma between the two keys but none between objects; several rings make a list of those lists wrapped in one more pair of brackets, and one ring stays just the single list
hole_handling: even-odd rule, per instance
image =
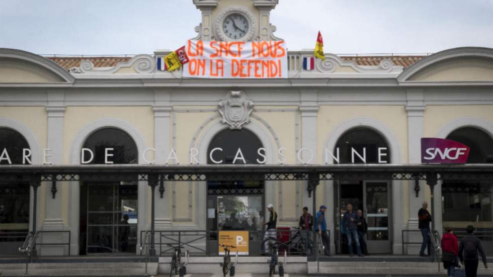
[{"label": "central arched doorway under stone crest, including fanlight behind CAS", "polygon": [[[264,163],[258,154],[262,147],[259,138],[249,130],[225,129],[211,140],[207,163]],[[263,180],[207,181],[208,230],[262,230],[263,207]]]}]

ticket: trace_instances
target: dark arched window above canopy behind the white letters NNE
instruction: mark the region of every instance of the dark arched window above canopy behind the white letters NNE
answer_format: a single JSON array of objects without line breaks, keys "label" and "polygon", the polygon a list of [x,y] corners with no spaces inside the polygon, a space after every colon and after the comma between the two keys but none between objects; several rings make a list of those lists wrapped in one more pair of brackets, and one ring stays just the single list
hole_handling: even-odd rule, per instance
[{"label": "dark arched window above canopy behind the white letters NNE", "polygon": [[346,131],[334,148],[336,158],[338,149],[339,163],[390,163],[387,141],[370,128],[358,127]]}]

